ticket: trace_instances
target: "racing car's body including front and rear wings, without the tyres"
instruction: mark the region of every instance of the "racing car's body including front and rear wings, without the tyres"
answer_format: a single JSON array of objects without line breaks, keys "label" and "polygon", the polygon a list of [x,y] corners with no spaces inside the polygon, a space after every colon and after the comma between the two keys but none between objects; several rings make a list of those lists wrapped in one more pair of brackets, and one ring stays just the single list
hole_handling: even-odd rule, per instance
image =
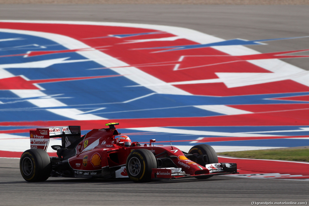
[{"label": "racing car's body including front and rear wings, without the tyres", "polygon": [[[131,145],[127,147],[124,144],[116,144],[115,137],[119,134],[120,133],[118,133],[114,125],[110,126],[110,128],[93,129],[83,137],[80,136],[79,126],[49,127],[38,128],[36,131],[30,131],[30,141],[31,147],[43,148],[46,150],[49,137],[61,137],[62,146],[54,146],[61,146],[64,150],[58,148],[58,157],[50,157],[51,161],[57,165],[51,173],[51,176],[53,177],[128,177],[125,168],[127,157],[130,152],[136,149],[147,149],[152,152],[158,162],[158,167],[160,167],[159,161],[161,161],[161,159],[170,159],[169,161],[171,165],[174,165],[171,166],[171,168],[181,168],[181,174],[177,173],[175,175],[174,173],[173,178],[226,174],[223,173],[224,170],[222,170],[221,166],[218,167],[220,168],[218,170],[217,168],[212,170],[210,167],[206,168],[194,161],[189,160],[184,152],[174,146],[151,145],[151,143],[155,142],[155,140],[150,140],[149,145],[145,144],[142,146],[137,144],[139,146]],[[69,136],[73,136],[73,139],[68,138]],[[37,139],[42,139],[42,141],[44,141],[41,145],[33,144],[33,141]],[[210,170],[212,171],[210,172]],[[171,173],[171,169],[169,168],[153,168],[151,176],[152,178],[157,179],[169,179],[172,178]],[[231,174],[232,172],[229,171],[228,173]]]}]

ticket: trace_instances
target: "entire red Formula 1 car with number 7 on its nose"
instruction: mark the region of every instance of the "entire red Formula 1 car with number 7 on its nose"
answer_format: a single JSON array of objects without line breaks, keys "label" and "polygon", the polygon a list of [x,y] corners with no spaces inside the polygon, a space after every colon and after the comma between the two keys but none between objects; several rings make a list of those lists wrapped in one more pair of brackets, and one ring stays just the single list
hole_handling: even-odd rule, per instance
[{"label": "entire red Formula 1 car with number 7 on its nose", "polygon": [[[207,144],[192,147],[189,152],[174,146],[140,145],[120,135],[115,125],[93,129],[81,137],[80,126],[37,128],[30,131],[31,149],[20,158],[20,172],[28,182],[45,181],[49,177],[130,178],[134,182],[153,179],[235,174],[235,163],[218,163],[214,149]],[[62,145],[51,146],[58,157],[46,152],[49,138],[61,137]]]}]

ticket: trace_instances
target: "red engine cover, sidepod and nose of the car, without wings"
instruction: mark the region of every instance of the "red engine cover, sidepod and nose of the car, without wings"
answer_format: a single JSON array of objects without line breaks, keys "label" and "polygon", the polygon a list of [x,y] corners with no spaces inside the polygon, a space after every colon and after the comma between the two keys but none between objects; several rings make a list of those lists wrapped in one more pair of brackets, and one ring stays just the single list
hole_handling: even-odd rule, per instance
[{"label": "red engine cover, sidepod and nose of the car, without wings", "polygon": [[[69,164],[74,170],[94,171],[104,167],[123,166],[130,152],[135,149],[148,149],[155,155],[166,152],[175,165],[182,168],[186,174],[209,174],[209,170],[184,156],[180,149],[174,146],[138,146],[125,147],[117,145],[116,129],[93,129],[87,133],[84,140],[76,147],[76,156],[69,158]],[[112,156],[117,154],[117,158]],[[118,160],[117,162],[115,160]],[[201,168],[203,169],[201,171]],[[126,175],[125,175],[126,176]]]}]

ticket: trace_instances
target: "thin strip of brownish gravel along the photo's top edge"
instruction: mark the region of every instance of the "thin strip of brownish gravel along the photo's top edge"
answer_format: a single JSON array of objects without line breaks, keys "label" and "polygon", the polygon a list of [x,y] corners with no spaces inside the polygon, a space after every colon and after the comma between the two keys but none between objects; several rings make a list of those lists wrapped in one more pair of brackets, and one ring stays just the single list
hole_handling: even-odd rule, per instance
[{"label": "thin strip of brownish gravel along the photo's top edge", "polygon": [[0,0],[0,4],[234,4],[309,5],[309,0]]}]

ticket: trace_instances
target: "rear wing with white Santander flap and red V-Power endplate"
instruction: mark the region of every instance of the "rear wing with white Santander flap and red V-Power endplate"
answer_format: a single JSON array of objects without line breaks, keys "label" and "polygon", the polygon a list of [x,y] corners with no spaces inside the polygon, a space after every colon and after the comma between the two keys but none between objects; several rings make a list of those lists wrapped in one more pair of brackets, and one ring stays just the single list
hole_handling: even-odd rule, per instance
[{"label": "rear wing with white Santander flap and red V-Power endplate", "polygon": [[60,138],[62,147],[70,145],[81,138],[80,126],[44,127],[30,130],[30,148],[47,150],[49,138]]}]

